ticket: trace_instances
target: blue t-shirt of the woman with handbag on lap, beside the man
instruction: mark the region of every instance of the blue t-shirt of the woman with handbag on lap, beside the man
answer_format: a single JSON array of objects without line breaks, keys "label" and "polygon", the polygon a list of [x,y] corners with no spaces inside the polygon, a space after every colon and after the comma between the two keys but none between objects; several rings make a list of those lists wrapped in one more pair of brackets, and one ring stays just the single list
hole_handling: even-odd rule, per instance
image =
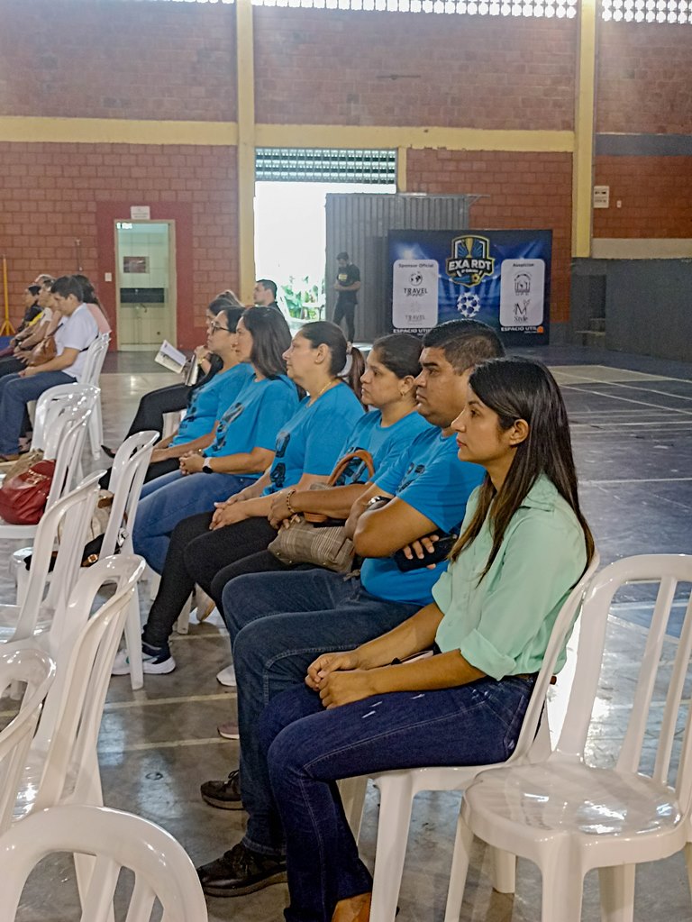
[{"label": "blue t-shirt of the woman with handbag on lap, beside the man", "polygon": [[[378,471],[395,464],[416,436],[428,429],[439,431],[416,410],[407,413],[391,426],[382,426],[381,410],[370,410],[348,433],[339,457],[350,455],[358,449],[367,451],[372,455],[372,467],[377,475]],[[368,479],[368,468],[362,461],[356,460],[353,465],[349,465],[339,483],[365,483]]]}]

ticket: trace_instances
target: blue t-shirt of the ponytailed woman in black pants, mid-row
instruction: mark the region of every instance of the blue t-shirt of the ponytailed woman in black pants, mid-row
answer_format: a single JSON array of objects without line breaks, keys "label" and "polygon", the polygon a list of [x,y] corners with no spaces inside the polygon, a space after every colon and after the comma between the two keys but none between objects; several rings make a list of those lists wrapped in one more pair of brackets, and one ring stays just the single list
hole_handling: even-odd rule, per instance
[{"label": "blue t-shirt of the ponytailed woman in black pants, mid-row", "polygon": [[310,399],[300,401],[298,412],[276,436],[276,455],[269,472],[272,482],[263,496],[298,483],[302,474],[331,474],[341,457],[344,432],[364,413],[347,384],[337,384],[312,404]]}]

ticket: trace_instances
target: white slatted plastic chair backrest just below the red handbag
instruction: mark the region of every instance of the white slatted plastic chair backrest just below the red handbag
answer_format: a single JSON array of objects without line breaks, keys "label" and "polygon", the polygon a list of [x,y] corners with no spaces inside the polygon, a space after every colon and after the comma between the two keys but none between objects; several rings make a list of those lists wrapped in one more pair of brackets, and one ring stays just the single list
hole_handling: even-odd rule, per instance
[{"label": "white slatted plastic chair backrest just below the red handbag", "polygon": [[[39,621],[50,615],[53,622],[48,647],[56,653],[62,645],[65,625],[61,624],[61,619],[65,620],[67,599],[79,576],[82,549],[87,542],[101,473],[91,474],[41,516],[31,549],[29,583],[21,600],[13,641],[31,637]],[[61,526],[64,526],[62,540],[49,578],[53,549]]]}]

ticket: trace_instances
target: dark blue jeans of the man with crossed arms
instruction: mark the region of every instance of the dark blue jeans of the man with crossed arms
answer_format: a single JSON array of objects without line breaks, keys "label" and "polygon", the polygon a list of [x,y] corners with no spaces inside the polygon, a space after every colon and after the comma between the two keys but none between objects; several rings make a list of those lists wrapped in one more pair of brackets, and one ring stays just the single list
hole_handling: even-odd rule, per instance
[{"label": "dark blue jeans of the man with crossed arms", "polygon": [[240,793],[248,812],[243,843],[281,855],[284,833],[257,737],[264,706],[300,685],[316,656],[379,637],[420,605],[370,596],[359,579],[316,568],[238,576],[224,589],[223,609],[238,682]]}]

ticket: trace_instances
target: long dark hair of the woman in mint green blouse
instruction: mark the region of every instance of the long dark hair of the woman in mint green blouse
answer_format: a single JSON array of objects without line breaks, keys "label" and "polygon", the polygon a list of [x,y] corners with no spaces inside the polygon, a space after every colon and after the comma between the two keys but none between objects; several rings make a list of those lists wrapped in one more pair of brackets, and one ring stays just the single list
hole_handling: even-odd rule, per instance
[{"label": "long dark hair of the woman in mint green blouse", "polygon": [[569,503],[584,532],[587,563],[593,557],[593,536],[581,513],[577,472],[572,456],[569,420],[562,395],[553,375],[539,361],[530,359],[492,359],[478,365],[469,378],[469,387],[487,408],[498,414],[499,428],[507,431],[517,420],[525,420],[529,434],[517,445],[510,470],[499,491],[486,479],[474,517],[452,549],[451,560],[477,538],[490,515],[493,545],[483,579],[498,555],[511,517],[541,475],[550,479],[560,496]]}]

